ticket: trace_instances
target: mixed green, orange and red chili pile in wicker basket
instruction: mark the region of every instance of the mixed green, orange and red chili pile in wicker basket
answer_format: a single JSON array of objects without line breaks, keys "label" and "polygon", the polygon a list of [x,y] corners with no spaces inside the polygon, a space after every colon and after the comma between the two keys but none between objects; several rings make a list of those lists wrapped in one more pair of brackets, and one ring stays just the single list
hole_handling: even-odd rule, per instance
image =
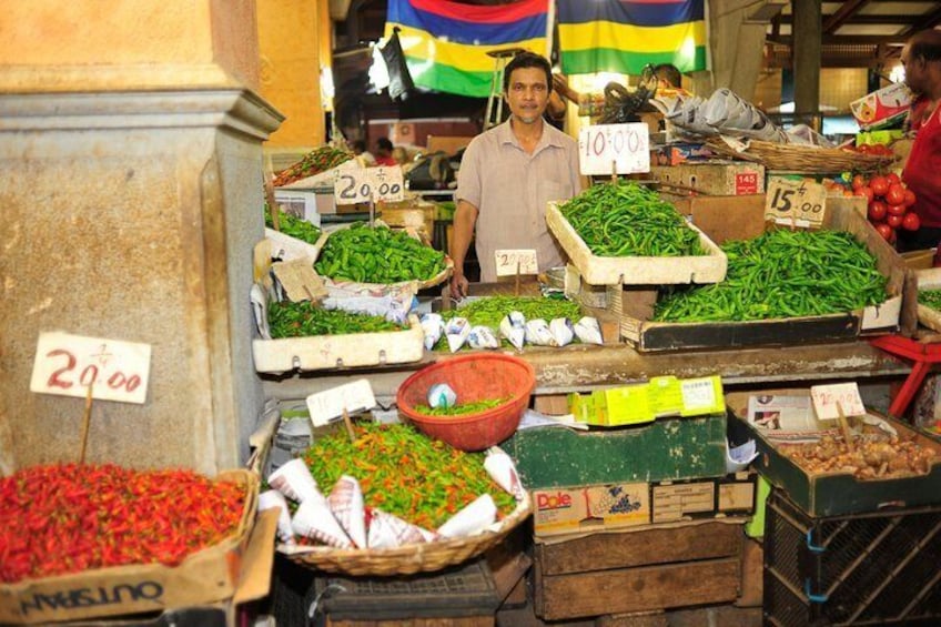
[{"label": "mixed green, orange and red chili pile in wicker basket", "polygon": [[516,508],[513,496],[484,468],[483,453],[465,453],[408,425],[355,425],[317,438],[304,461],[317,485],[330,489],[341,475],[356,477],[366,506],[436,529],[462,507],[488,493],[500,517]]}]

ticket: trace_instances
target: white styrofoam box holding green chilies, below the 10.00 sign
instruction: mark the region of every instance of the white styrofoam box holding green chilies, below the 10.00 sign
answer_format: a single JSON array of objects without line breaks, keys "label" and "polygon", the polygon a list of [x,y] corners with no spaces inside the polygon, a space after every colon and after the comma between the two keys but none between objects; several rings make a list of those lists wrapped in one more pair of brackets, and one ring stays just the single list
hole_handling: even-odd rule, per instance
[{"label": "white styrofoam box holding green chilies, below the 10.00 sign", "polygon": [[696,256],[596,256],[563,216],[555,202],[546,208],[546,223],[568,254],[571,264],[591,285],[668,285],[684,283],[718,283],[726,277],[728,259],[702,231],[694,224],[707,255]]}]

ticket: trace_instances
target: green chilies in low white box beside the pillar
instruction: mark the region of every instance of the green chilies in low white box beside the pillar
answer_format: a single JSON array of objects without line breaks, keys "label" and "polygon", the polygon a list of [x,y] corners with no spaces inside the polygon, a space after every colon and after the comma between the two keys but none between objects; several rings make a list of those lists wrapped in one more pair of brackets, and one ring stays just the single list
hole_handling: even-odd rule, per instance
[{"label": "green chilies in low white box beside the pillar", "polygon": [[308,302],[292,303],[290,301],[269,303],[267,323],[273,340],[403,331],[406,328],[378,315],[324,310],[312,306]]}]

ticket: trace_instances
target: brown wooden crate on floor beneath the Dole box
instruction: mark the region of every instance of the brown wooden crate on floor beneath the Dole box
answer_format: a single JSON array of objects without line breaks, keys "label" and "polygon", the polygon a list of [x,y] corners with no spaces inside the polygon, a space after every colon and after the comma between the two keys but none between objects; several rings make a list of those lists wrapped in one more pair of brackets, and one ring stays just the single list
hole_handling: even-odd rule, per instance
[{"label": "brown wooden crate on floor beneath the Dole box", "polygon": [[537,538],[536,615],[559,620],[732,601],[741,579],[743,523]]}]

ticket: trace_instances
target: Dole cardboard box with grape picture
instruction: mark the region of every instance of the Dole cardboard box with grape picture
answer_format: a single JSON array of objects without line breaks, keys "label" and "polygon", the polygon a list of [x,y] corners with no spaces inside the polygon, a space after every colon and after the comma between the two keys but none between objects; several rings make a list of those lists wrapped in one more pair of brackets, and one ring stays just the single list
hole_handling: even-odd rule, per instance
[{"label": "Dole cardboard box with grape picture", "polygon": [[646,482],[533,491],[536,535],[550,536],[646,525],[650,522]]}]

